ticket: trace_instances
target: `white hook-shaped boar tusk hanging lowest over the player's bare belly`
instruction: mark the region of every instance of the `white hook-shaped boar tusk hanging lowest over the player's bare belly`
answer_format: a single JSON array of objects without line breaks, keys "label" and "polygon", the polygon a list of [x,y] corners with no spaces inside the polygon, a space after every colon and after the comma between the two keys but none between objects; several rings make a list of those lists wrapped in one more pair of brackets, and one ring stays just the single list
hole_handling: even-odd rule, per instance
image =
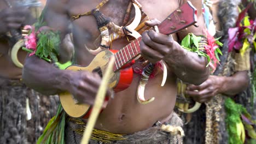
[{"label": "white hook-shaped boar tusk hanging lowest over the player's bare belly", "polygon": [[147,84],[147,80],[141,80],[139,81],[139,86],[137,89],[137,100],[140,104],[146,105],[148,103],[151,103],[155,98],[150,98],[150,99],[145,99],[144,97],[144,91],[145,91],[145,86]]}]

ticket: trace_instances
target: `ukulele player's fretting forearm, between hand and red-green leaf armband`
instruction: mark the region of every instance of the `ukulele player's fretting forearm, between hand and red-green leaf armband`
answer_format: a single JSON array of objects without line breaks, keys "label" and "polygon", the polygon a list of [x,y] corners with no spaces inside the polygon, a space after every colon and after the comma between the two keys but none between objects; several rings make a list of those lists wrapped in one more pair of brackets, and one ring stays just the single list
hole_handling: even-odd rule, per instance
[{"label": "ukulele player's fretting forearm, between hand and red-green leaf armband", "polygon": [[176,55],[170,56],[166,61],[170,71],[184,82],[200,85],[210,75],[207,59],[197,53],[189,52],[180,47]]}]

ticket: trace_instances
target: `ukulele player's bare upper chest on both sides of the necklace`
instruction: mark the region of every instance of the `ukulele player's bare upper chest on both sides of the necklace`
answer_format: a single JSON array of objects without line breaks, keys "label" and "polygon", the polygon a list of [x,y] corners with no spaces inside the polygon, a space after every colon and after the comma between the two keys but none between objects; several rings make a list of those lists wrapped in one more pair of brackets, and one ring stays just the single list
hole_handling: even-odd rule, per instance
[{"label": "ukulele player's bare upper chest on both sides of the necklace", "polygon": [[[74,0],[72,1],[72,4],[69,4],[70,9],[68,10],[68,13],[71,16],[86,13],[96,8],[100,2],[101,0]],[[129,0],[109,0],[108,3],[103,5],[100,11],[102,14],[109,17],[115,24],[121,26],[129,2]],[[142,5],[142,10],[148,15],[149,19],[158,19],[160,21],[164,20],[169,14],[171,14],[173,10],[178,7],[178,1],[176,0],[138,0],[138,2]],[[134,11],[135,10],[132,8],[131,17],[134,16]],[[96,23],[96,19],[92,15],[82,16],[79,19],[73,21],[73,25],[75,27],[74,29],[77,29],[75,32],[80,33],[78,35],[83,35],[83,40],[86,41],[86,45],[88,45],[90,49],[96,49],[97,44],[99,43],[98,40],[100,39],[100,32],[98,31]],[[121,43],[124,41],[125,40],[121,40]],[[118,42],[118,47],[121,47],[119,44],[120,43]]]}]

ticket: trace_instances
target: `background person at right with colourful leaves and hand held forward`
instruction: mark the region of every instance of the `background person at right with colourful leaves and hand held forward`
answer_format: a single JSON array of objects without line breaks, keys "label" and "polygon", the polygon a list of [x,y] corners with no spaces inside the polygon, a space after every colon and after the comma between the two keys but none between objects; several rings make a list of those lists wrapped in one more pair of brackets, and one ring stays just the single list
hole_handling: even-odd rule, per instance
[{"label": "background person at right with colourful leaves and hand held forward", "polygon": [[[188,121],[184,125],[187,134],[184,142],[255,143],[255,2],[246,11],[248,13],[241,11],[250,1],[202,2],[208,31],[216,38],[222,37],[223,56],[214,75],[199,86],[187,85],[184,91],[185,95],[202,103],[199,110],[184,115],[184,120]],[[238,18],[239,13],[245,15]],[[249,20],[251,22],[247,22]],[[243,33],[245,25],[250,28],[246,30],[248,33]],[[234,27],[239,30],[235,31]],[[232,33],[239,34],[234,37]],[[236,41],[234,46],[232,38]]]}]

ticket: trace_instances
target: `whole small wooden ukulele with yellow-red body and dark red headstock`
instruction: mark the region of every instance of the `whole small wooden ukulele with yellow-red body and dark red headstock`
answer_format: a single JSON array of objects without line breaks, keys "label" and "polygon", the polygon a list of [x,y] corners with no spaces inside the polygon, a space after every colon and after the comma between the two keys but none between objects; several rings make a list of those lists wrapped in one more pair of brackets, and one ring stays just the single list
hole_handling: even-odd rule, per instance
[{"label": "whole small wooden ukulele with yellow-red body and dark red headstock", "polygon": [[[172,34],[187,28],[196,23],[196,8],[190,2],[187,2],[171,15],[169,15],[158,26],[159,32],[162,34]],[[115,64],[109,80],[109,88],[113,88],[115,92],[119,92],[129,87],[132,82],[132,68],[123,68],[127,63],[130,63],[140,54],[139,41],[141,37],[133,40],[130,44],[123,47],[119,51],[103,50],[98,53],[88,67],[79,67],[71,65],[68,70],[87,70],[97,71],[99,74],[104,74],[107,68],[109,58],[114,55]],[[59,94],[60,102],[66,113],[74,118],[88,118],[91,113],[91,106],[87,104],[76,103],[71,93],[65,92]]]}]

